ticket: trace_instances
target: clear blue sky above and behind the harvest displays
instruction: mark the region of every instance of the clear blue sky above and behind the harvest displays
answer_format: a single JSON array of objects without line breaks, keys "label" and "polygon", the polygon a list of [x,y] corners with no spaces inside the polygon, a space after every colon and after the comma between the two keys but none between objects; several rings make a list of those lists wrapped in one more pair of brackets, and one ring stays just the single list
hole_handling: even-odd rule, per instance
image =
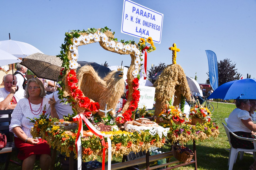
[{"label": "clear blue sky above and behind the harvest displays", "polygon": [[[205,83],[208,61],[205,50],[212,50],[217,60],[230,58],[238,72],[246,76],[255,74],[256,1],[205,0],[133,0],[164,14],[161,44],[148,55],[151,64],[172,63],[172,52],[177,44],[177,63],[186,75]],[[123,0],[66,1],[66,0],[9,0],[1,1],[0,40],[11,39],[29,43],[44,54],[58,55],[64,43],[65,32],[88,28],[109,27],[118,40],[139,38],[120,32]],[[129,66],[129,55],[111,53],[98,43],[79,46],[78,61],[92,61],[110,66]]]}]

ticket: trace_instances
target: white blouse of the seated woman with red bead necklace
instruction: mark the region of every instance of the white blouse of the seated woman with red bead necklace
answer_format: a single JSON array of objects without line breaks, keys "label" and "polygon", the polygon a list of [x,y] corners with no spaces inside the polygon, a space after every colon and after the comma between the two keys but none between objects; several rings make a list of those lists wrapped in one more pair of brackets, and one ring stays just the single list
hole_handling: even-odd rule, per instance
[{"label": "white blouse of the seated woman with red bead necklace", "polygon": [[[41,115],[43,109],[44,109],[44,105],[46,104],[46,113],[48,113],[48,108],[49,108],[49,104],[48,101],[50,99],[46,99],[43,98],[43,104],[42,104],[42,109],[41,111],[39,110],[38,112],[34,112],[35,114],[39,113],[38,115],[34,115],[31,112],[30,106],[29,106],[29,102],[27,98],[24,99],[20,99],[20,101],[17,103],[17,106],[15,107],[15,109],[12,112],[12,120],[11,120],[11,124],[9,125],[9,130],[10,132],[13,132],[12,129],[19,126],[21,127],[21,129],[24,131],[24,133],[29,137],[32,138],[32,135],[30,134],[30,130],[31,127],[34,126],[34,123],[29,122],[30,120],[27,118],[39,118],[39,116]],[[33,110],[38,110],[41,104],[32,104],[31,103],[31,108]],[[50,109],[50,108],[49,108]],[[48,114],[49,117],[50,114]],[[16,135],[14,135],[16,136]],[[17,137],[17,136],[16,136]]]}]

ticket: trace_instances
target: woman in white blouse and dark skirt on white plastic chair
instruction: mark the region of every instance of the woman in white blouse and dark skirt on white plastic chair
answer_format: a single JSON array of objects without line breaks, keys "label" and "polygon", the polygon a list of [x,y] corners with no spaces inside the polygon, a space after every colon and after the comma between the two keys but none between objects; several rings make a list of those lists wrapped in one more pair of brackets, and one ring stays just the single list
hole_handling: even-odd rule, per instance
[{"label": "woman in white blouse and dark skirt on white plastic chair", "polygon": [[[255,133],[256,124],[252,122],[252,117],[249,114],[251,108],[248,99],[237,99],[236,109],[228,116],[227,126],[231,132],[244,138],[256,139]],[[252,141],[238,139],[230,133],[230,143],[233,148],[254,149]],[[256,161],[249,167],[250,170],[256,170]]]}]

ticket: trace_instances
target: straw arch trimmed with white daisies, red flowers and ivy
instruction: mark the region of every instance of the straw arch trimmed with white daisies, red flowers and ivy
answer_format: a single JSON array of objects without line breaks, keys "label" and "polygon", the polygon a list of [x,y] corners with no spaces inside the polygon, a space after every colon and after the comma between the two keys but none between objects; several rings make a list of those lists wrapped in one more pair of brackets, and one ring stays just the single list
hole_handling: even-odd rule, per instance
[{"label": "straw arch trimmed with white daisies, red flowers and ivy", "polygon": [[[76,69],[78,67],[77,58],[78,50],[77,47],[81,45],[87,45],[94,42],[99,42],[100,46],[105,50],[118,53],[118,54],[130,54],[131,56],[131,66],[128,69],[127,81],[128,81],[128,93],[127,102],[125,103],[122,111],[123,115],[131,114],[138,107],[139,102],[139,68],[141,65],[141,56],[143,56],[142,51],[147,50],[151,52],[155,50],[152,39],[149,37],[147,40],[141,38],[138,45],[134,41],[121,41],[117,42],[114,34],[107,27],[95,29],[91,28],[88,30],[72,30],[71,32],[66,32],[65,44],[62,44],[61,54],[58,57],[63,61],[63,70],[59,76],[59,83],[63,89],[59,89],[60,97],[67,99],[66,102],[71,103],[73,106],[73,111],[75,114],[90,111],[93,114],[98,112],[100,108],[99,103],[89,99],[84,96],[82,91],[78,89]],[[145,43],[150,43],[150,48],[145,48]],[[124,117],[125,117],[124,116]],[[127,116],[126,116],[127,117]]]}]

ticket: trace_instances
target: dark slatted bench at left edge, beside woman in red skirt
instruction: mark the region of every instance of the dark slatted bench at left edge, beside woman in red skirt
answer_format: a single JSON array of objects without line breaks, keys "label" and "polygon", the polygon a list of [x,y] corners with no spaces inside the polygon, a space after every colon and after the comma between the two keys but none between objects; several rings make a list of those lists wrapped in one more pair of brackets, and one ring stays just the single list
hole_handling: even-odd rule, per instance
[{"label": "dark slatted bench at left edge, beside woman in red skirt", "polygon": [[[5,118],[0,118],[0,122],[8,122],[8,124],[10,125],[11,123],[11,119],[12,119],[12,111],[13,110],[0,110],[0,115],[8,115],[8,117]],[[9,125],[4,125],[4,126],[0,126],[0,130],[8,130],[9,132]],[[8,169],[9,163],[13,163],[16,164],[18,166],[21,166],[20,163],[11,160],[11,153],[12,151],[18,151],[18,148],[15,147],[15,144],[13,142],[13,133],[9,132],[9,138],[7,138],[7,144],[4,148],[0,149],[0,154],[3,153],[8,153],[7,154],[7,161],[5,163],[5,168],[4,169]]]}]

